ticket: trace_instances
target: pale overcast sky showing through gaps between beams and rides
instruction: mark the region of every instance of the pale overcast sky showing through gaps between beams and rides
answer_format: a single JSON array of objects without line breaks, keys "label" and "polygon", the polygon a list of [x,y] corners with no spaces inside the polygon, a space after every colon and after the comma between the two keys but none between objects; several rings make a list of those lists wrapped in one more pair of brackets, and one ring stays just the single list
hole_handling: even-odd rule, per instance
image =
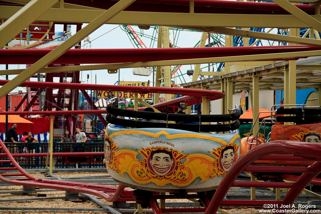
[{"label": "pale overcast sky showing through gaps between beams and rides", "polygon": [[[86,24],[83,24],[82,27],[86,26]],[[115,29],[114,29],[115,28]],[[133,26],[134,30],[137,32],[140,32],[141,30],[137,26]],[[114,29],[114,30],[113,30]],[[111,30],[111,31],[110,31]],[[55,31],[63,31],[63,25],[55,25]],[[72,35],[76,33],[76,26],[72,25],[71,28]],[[110,32],[108,32],[110,31]],[[108,33],[107,33],[108,32]],[[144,34],[152,36],[153,29],[150,30],[143,30]],[[276,32],[275,32],[276,33]],[[172,30],[170,30],[170,42],[173,44],[173,35],[177,35],[176,31],[173,33]],[[181,31],[179,33],[178,39],[176,36],[175,39],[175,45],[177,47],[194,47],[196,43],[199,42],[201,38],[201,32],[191,32],[191,31]],[[155,35],[155,34],[154,34]],[[223,35],[224,36],[224,35]],[[84,42],[82,41],[82,48],[135,48],[132,44],[132,41],[128,38],[128,35],[124,30],[121,29],[118,25],[110,25],[105,24],[101,26],[99,29],[94,31],[92,34],[89,35],[91,46],[84,45]],[[152,40],[146,37],[141,38],[142,41],[145,43],[147,47],[151,46]],[[267,43],[264,42],[266,45]],[[207,44],[207,42],[206,42]],[[153,43],[153,47],[156,48],[157,43]],[[136,47],[137,48],[137,47]],[[208,71],[207,64],[201,65],[201,68],[203,68],[203,71]],[[9,65],[9,69],[17,69],[17,68],[26,68],[26,65]],[[186,73],[188,69],[194,69],[194,65],[183,65],[181,67],[181,72]],[[0,70],[4,70],[5,65],[0,65]],[[213,68],[211,68],[213,69]],[[214,68],[215,69],[215,68]],[[216,69],[215,69],[216,71]],[[94,70],[94,71],[82,71],[81,72],[81,81],[83,83],[87,83],[87,74],[89,74],[89,80],[88,83],[95,84],[95,75],[97,75],[97,84],[115,84],[118,80],[118,74],[108,74],[107,70]],[[16,75],[9,75],[9,80],[13,79]],[[184,75],[185,81],[190,82],[191,77]],[[0,79],[5,79],[4,77],[0,76]],[[138,76],[134,75],[132,73],[131,68],[124,68],[120,69],[120,80],[121,81],[151,81],[152,82],[152,75],[151,76]],[[36,78],[31,78],[31,81],[37,81]],[[55,78],[55,82],[58,82],[59,79]],[[179,80],[177,78],[176,83],[184,82],[183,79]],[[18,87],[12,92],[18,92],[18,90],[25,91],[22,87]]]}]

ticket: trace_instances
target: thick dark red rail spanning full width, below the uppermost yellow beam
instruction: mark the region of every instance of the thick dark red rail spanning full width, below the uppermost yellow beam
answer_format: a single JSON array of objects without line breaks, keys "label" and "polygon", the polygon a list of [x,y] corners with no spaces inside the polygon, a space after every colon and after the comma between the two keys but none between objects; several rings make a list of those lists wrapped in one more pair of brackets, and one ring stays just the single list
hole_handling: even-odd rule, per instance
[{"label": "thick dark red rail spanning full width, below the uppermost yellow beam", "polygon": [[[52,49],[0,49],[0,64],[34,64]],[[130,63],[321,50],[308,45],[253,47],[187,47],[70,49],[51,64]],[[286,56],[286,55],[285,55]],[[304,57],[303,57],[304,58]],[[306,58],[306,57],[305,57]],[[284,60],[279,58],[275,60]],[[297,59],[297,58],[296,58]],[[289,59],[287,59],[289,60]]]}]

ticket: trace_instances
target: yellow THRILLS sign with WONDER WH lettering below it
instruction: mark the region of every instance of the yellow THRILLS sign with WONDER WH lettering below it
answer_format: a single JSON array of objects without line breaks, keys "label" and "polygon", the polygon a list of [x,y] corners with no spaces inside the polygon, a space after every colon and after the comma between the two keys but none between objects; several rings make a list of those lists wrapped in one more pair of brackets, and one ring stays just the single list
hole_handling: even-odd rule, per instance
[{"label": "yellow THRILLS sign with WONDER WH lettering below it", "polygon": [[[128,86],[149,86],[149,81],[148,82],[131,82],[131,81],[120,81],[120,85],[128,85]],[[113,93],[115,97],[118,96],[117,91],[97,91],[97,97],[103,97],[103,98],[108,98],[108,95],[110,93]],[[152,99],[153,94],[148,93],[148,94],[138,94],[138,98],[142,99]],[[134,99],[134,93],[133,92],[122,92],[119,91],[119,98],[130,98]]]}]

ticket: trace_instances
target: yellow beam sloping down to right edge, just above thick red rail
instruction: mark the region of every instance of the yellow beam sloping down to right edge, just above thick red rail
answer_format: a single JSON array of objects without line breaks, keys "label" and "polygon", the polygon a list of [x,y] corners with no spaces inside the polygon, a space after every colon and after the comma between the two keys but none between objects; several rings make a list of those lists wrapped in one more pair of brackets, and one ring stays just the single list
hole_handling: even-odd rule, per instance
[{"label": "yellow beam sloping down to right edge, just above thick red rail", "polygon": [[[200,27],[178,27],[178,28],[202,31]],[[235,28],[214,27],[213,30],[211,29],[212,28],[208,29],[210,30],[209,32],[211,33],[228,34],[228,35],[240,36],[240,37],[248,36],[249,38],[254,38],[254,39],[265,39],[265,40],[272,40],[272,41],[279,41],[279,42],[292,42],[292,43],[301,44],[301,45],[321,46],[321,41],[318,41],[316,39],[308,39],[308,38],[268,33],[272,29],[270,29],[266,33],[256,32],[251,30],[241,30],[241,29],[235,29]],[[256,42],[258,41],[259,40],[257,40]]]}]

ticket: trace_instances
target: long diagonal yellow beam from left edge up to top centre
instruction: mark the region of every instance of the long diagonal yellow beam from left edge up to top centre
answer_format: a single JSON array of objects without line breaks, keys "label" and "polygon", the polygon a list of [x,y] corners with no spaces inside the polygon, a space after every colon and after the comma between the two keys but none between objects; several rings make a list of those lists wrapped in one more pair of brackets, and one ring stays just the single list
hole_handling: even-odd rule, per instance
[{"label": "long diagonal yellow beam from left edge up to top centre", "polygon": [[[6,94],[8,94],[11,90],[19,86],[22,82],[29,79],[35,73],[37,73],[40,69],[44,68],[52,61],[57,59],[59,56],[63,55],[67,50],[73,47],[75,44],[80,42],[86,36],[91,34],[101,25],[103,25],[106,21],[112,19],[122,10],[124,10],[128,5],[132,4],[135,0],[120,0],[112,7],[110,7],[107,11],[102,13],[99,17],[93,20],[91,23],[86,25],[83,29],[79,30],[75,33],[71,38],[67,39],[61,45],[50,51],[46,56],[42,57],[39,61],[31,65],[21,74],[13,78],[13,80],[9,81],[7,84],[1,87],[0,98],[3,98]],[[0,25],[1,27],[2,25]]]}]

